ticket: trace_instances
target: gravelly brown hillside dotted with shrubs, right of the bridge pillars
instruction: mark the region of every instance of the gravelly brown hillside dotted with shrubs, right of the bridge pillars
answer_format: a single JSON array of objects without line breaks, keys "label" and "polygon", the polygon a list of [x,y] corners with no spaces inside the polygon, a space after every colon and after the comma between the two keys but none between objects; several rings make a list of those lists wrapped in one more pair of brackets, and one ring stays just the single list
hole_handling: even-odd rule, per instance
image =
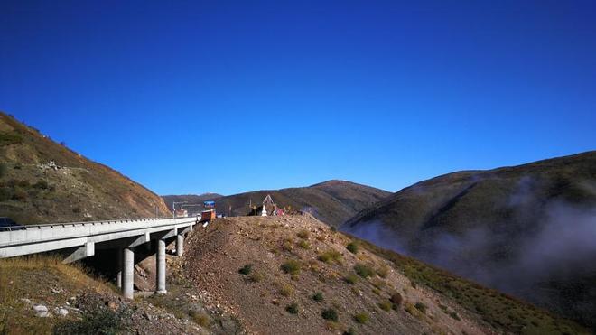
[{"label": "gravelly brown hillside dotted with shrubs, right of the bridge pillars", "polygon": [[585,331],[310,215],[217,219],[191,233],[182,273],[248,333]]}]

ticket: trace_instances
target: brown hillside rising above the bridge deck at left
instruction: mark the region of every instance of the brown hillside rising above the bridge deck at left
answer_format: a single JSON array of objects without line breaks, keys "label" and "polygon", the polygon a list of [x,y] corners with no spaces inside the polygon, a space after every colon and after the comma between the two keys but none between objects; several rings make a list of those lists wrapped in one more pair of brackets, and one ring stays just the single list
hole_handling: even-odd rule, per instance
[{"label": "brown hillside rising above the bridge deck at left", "polygon": [[0,113],[0,217],[21,224],[154,217],[163,200]]}]

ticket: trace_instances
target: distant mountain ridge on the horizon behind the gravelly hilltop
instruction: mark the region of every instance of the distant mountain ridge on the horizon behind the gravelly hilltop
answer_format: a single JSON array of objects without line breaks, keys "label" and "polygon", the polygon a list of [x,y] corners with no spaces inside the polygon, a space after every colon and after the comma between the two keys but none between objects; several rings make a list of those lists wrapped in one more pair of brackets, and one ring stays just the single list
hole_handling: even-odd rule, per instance
[{"label": "distant mountain ridge on the horizon behind the gravelly hilltop", "polygon": [[[391,193],[350,181],[325,181],[309,187],[251,191],[219,198],[210,197],[210,200],[216,200],[216,209],[220,213],[228,216],[245,216],[251,210],[250,204],[260,206],[267,194],[271,195],[279,208],[308,211],[315,218],[337,227],[359,210],[371,206]],[[169,204],[173,199],[195,203],[204,199],[202,196],[164,196],[163,198]]]}]

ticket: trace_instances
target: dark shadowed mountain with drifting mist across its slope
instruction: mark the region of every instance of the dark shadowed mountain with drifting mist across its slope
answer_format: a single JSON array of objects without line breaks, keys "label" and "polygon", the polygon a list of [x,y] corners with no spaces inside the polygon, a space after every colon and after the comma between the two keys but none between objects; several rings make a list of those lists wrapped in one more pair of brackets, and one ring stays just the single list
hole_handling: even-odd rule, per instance
[{"label": "dark shadowed mountain with drifting mist across its slope", "polygon": [[422,181],[341,229],[596,329],[596,152]]}]

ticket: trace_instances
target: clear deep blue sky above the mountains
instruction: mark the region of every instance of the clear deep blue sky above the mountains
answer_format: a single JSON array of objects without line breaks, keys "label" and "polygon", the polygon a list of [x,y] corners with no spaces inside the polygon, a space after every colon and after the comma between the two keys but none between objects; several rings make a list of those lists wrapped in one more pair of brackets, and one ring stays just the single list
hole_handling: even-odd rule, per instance
[{"label": "clear deep blue sky above the mountains", "polygon": [[596,149],[594,1],[0,2],[0,109],[160,194]]}]

